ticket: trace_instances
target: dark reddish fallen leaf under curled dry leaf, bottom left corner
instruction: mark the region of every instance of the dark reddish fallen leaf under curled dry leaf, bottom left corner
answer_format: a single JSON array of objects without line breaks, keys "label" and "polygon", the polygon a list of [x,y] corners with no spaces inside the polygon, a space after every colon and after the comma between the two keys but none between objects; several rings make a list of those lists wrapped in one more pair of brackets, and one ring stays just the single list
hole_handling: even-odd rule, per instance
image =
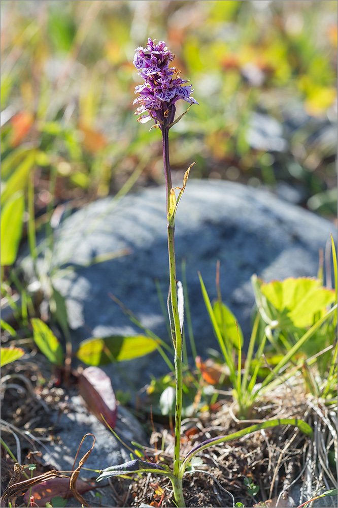
[{"label": "dark reddish fallen leaf under curled dry leaf, bottom left corner", "polygon": [[[27,490],[25,495],[23,496],[23,501],[25,505],[28,505],[29,496],[34,496],[34,502],[36,506],[46,506],[46,503],[51,501],[54,496],[61,496],[64,499],[73,496],[73,493],[69,486],[70,478],[53,478],[52,480],[47,480],[45,482],[41,482],[38,485],[33,485],[30,489]],[[81,482],[80,480],[76,483],[76,488],[80,494],[84,494],[89,490],[95,487],[95,482]]]}]

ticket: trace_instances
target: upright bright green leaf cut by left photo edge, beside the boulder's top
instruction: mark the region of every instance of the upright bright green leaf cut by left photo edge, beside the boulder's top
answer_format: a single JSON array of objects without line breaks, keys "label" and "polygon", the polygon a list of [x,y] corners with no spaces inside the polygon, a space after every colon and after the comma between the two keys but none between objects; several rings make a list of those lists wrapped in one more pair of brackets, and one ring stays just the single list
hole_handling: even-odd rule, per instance
[{"label": "upright bright green leaf cut by left photo edge, beside the boulder's top", "polygon": [[22,192],[15,193],[1,212],[1,266],[13,265],[16,260],[23,225],[25,198]]}]

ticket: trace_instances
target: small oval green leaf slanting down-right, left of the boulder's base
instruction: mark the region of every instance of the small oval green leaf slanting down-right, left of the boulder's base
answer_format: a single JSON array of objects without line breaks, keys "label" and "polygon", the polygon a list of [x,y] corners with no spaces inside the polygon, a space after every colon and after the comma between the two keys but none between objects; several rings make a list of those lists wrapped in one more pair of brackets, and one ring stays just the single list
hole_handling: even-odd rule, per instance
[{"label": "small oval green leaf slanting down-right, left of the boulder's base", "polygon": [[33,327],[33,339],[40,351],[51,363],[62,366],[62,346],[53,334],[52,330],[38,317],[33,317],[33,319],[31,319],[31,324]]}]

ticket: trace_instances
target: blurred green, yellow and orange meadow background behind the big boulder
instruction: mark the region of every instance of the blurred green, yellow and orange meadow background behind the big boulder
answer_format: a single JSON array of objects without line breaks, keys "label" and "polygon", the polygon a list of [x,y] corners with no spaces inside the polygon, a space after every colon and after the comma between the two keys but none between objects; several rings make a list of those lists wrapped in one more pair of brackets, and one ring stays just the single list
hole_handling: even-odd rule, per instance
[{"label": "blurred green, yellow and orange meadow background behind the big boulder", "polygon": [[194,178],[265,186],[333,219],[337,2],[325,0],[2,1],[2,205],[30,183],[39,229],[60,204],[163,183],[160,133],[133,116],[148,37],[199,102],[171,130],[174,183],[196,161]]}]

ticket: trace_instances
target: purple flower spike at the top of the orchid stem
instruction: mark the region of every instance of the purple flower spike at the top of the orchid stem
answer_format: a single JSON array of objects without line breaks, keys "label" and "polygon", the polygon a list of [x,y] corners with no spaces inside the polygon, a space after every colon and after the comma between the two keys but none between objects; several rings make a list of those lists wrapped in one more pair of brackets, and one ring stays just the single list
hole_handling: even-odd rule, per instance
[{"label": "purple flower spike at the top of the orchid stem", "polygon": [[134,114],[142,115],[138,118],[141,123],[154,119],[161,129],[163,125],[170,128],[175,117],[175,103],[179,99],[198,104],[191,97],[192,87],[185,85],[188,81],[179,77],[180,71],[176,67],[169,67],[175,55],[163,41],[155,44],[155,40],[149,38],[146,48],[140,46],[135,51],[133,63],[145,82],[135,87],[135,93],[140,95],[133,102],[139,105]]}]

